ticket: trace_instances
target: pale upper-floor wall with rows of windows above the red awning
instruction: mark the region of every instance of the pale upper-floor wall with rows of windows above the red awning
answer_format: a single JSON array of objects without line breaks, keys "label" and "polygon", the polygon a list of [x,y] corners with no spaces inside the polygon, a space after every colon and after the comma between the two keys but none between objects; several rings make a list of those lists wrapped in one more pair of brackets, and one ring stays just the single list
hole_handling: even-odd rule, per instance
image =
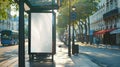
[{"label": "pale upper-floor wall with rows of windows above the red awning", "polygon": [[109,29],[109,28],[116,28],[118,20],[120,18],[112,18],[109,21],[103,20],[103,14],[106,12],[113,10],[117,7],[117,0],[101,0],[101,5],[99,5],[100,9],[91,16],[91,27],[94,27],[92,29],[94,30],[102,30],[102,29]]}]

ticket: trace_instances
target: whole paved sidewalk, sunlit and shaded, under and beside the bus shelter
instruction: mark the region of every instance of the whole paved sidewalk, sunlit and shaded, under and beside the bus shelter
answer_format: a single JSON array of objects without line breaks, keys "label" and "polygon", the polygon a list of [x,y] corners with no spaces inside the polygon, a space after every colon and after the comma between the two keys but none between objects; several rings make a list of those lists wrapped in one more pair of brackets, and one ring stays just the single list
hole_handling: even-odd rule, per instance
[{"label": "whole paved sidewalk, sunlit and shaded, under and beside the bus shelter", "polygon": [[[61,45],[62,47],[59,47]],[[29,62],[26,57],[26,67],[99,67],[84,55],[68,56],[67,46],[59,42],[56,45],[56,54],[54,55],[54,62]],[[18,62],[15,62],[10,67],[18,67]]]}]

